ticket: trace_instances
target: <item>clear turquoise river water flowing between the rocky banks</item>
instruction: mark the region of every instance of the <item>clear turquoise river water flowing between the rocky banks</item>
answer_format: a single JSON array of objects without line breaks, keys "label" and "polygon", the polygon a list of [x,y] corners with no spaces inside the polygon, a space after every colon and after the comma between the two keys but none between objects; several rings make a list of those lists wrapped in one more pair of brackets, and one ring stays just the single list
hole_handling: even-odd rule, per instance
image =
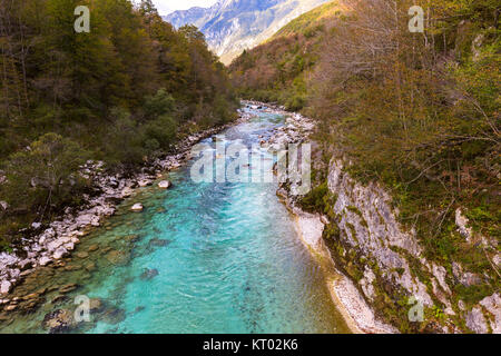
[{"label": "clear turquoise river water flowing between the rocky banks", "polygon": [[[226,140],[256,144],[283,122],[254,113]],[[167,176],[169,190],[153,186],[125,201],[65,267],[30,277],[19,293],[48,288],[43,303],[35,313],[4,316],[0,332],[47,333],[47,313],[75,309],[75,296],[87,295],[106,310],[78,333],[347,333],[276,184],[196,184],[191,165]],[[129,212],[137,201],[145,211]],[[70,283],[78,289],[51,303]]]}]

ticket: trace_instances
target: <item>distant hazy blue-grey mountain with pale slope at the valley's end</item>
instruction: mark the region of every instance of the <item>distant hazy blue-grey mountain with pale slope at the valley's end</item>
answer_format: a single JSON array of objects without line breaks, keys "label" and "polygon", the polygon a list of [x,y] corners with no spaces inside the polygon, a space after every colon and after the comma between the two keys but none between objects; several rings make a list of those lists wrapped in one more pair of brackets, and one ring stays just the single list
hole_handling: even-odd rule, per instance
[{"label": "distant hazy blue-grey mountain with pale slope at the valley's end", "polygon": [[176,28],[194,24],[210,49],[229,63],[245,49],[271,38],[283,26],[327,0],[220,0],[210,8],[175,11],[164,19]]}]

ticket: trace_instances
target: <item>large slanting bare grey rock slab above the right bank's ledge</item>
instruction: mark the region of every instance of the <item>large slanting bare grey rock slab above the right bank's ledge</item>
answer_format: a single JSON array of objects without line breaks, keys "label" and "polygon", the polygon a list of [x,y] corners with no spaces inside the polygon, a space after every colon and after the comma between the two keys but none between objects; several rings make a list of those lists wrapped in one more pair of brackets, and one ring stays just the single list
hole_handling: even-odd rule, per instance
[{"label": "large slanting bare grey rock slab above the right bank's ledge", "polygon": [[414,234],[405,233],[396,221],[390,196],[375,185],[363,187],[355,182],[338,160],[331,162],[328,189],[337,197],[333,210],[340,217],[336,224],[343,243],[377,261],[385,279],[431,307],[433,301],[426,286],[413,276],[406,258],[397,250],[413,256],[426,269],[431,270],[432,266],[423,258]]}]

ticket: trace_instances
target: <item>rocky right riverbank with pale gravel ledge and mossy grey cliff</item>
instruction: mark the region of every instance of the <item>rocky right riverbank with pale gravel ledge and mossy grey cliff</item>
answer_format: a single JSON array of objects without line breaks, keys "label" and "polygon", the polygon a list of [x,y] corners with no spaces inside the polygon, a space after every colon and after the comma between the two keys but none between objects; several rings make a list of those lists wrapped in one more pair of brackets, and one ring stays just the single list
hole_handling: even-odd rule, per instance
[{"label": "rocky right riverbank with pale gravel ledge and mossy grey cliff", "polygon": [[[275,109],[283,113],[283,108],[272,107]],[[301,142],[312,131],[312,120],[297,113],[288,116],[286,126],[269,139],[271,145]],[[452,285],[475,286],[482,276],[464,271],[458,263],[453,263],[451,273],[428,260],[415,231],[399,222],[391,196],[375,182],[357,182],[343,169],[344,165],[342,159],[332,158],[327,167],[332,197],[328,216],[325,211],[303,211],[296,204],[297,197],[289,194],[294,188],[291,184],[282,185],[277,194],[296,216],[303,241],[333,266],[335,276],[328,281],[333,299],[354,332],[397,333],[386,324],[392,319],[400,327],[403,323],[405,327],[424,327],[435,333],[462,333],[462,323],[474,333],[500,333],[499,293],[487,296],[473,308],[454,300]],[[468,219],[461,210],[455,215],[458,231],[471,243],[473,233]],[[485,238],[477,240],[492,245]],[[499,260],[498,254],[492,264],[499,266]],[[397,303],[390,301],[395,298]],[[416,317],[422,318],[418,320],[421,324],[409,317],[413,307],[420,308]]]}]

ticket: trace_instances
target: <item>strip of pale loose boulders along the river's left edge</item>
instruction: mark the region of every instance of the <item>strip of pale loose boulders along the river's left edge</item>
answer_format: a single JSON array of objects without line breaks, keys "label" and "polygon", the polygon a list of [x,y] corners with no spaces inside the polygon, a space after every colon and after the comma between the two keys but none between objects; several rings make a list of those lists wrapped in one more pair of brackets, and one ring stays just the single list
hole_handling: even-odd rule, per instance
[{"label": "strip of pale loose boulders along the river's left edge", "polygon": [[[246,113],[239,111],[239,119],[235,123],[247,118]],[[79,208],[67,208],[62,216],[47,226],[33,222],[30,229],[21,231],[24,237],[13,246],[12,253],[0,254],[0,305],[9,303],[9,294],[16,285],[33,270],[57,264],[71,255],[80,239],[92,228],[99,227],[106,217],[112,216],[118,204],[134,196],[136,188],[150,186],[165,172],[180,167],[189,159],[194,145],[230,125],[190,135],[176,145],[175,154],[149,161],[138,171],[109,175],[104,162],[88,161],[81,167],[80,175],[92,181],[95,194],[85,196]],[[166,189],[168,186],[164,181],[159,188]]]}]

